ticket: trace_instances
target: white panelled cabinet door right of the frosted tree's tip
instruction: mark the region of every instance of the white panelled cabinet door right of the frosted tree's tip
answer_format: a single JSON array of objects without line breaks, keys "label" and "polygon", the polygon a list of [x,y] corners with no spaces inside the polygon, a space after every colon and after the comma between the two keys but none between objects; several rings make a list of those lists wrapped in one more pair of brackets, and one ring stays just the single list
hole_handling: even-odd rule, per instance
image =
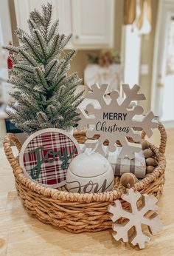
[{"label": "white panelled cabinet door right of the frosted tree's tip", "polygon": [[114,1],[72,0],[72,33],[77,49],[114,47]]}]

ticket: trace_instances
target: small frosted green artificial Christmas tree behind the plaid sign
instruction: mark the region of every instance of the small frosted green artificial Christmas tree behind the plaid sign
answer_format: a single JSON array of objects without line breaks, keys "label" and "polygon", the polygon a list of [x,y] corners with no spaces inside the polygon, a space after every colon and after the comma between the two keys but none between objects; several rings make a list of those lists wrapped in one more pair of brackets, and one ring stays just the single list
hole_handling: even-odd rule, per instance
[{"label": "small frosted green artificial Christmas tree behind the plaid sign", "polygon": [[79,120],[77,106],[83,92],[74,95],[80,84],[77,73],[68,75],[74,50],[65,54],[63,48],[70,36],[58,33],[58,20],[51,24],[52,4],[43,5],[29,15],[29,31],[17,29],[18,47],[13,51],[10,83],[15,102],[7,113],[16,127],[28,134],[39,129],[68,129]]}]

